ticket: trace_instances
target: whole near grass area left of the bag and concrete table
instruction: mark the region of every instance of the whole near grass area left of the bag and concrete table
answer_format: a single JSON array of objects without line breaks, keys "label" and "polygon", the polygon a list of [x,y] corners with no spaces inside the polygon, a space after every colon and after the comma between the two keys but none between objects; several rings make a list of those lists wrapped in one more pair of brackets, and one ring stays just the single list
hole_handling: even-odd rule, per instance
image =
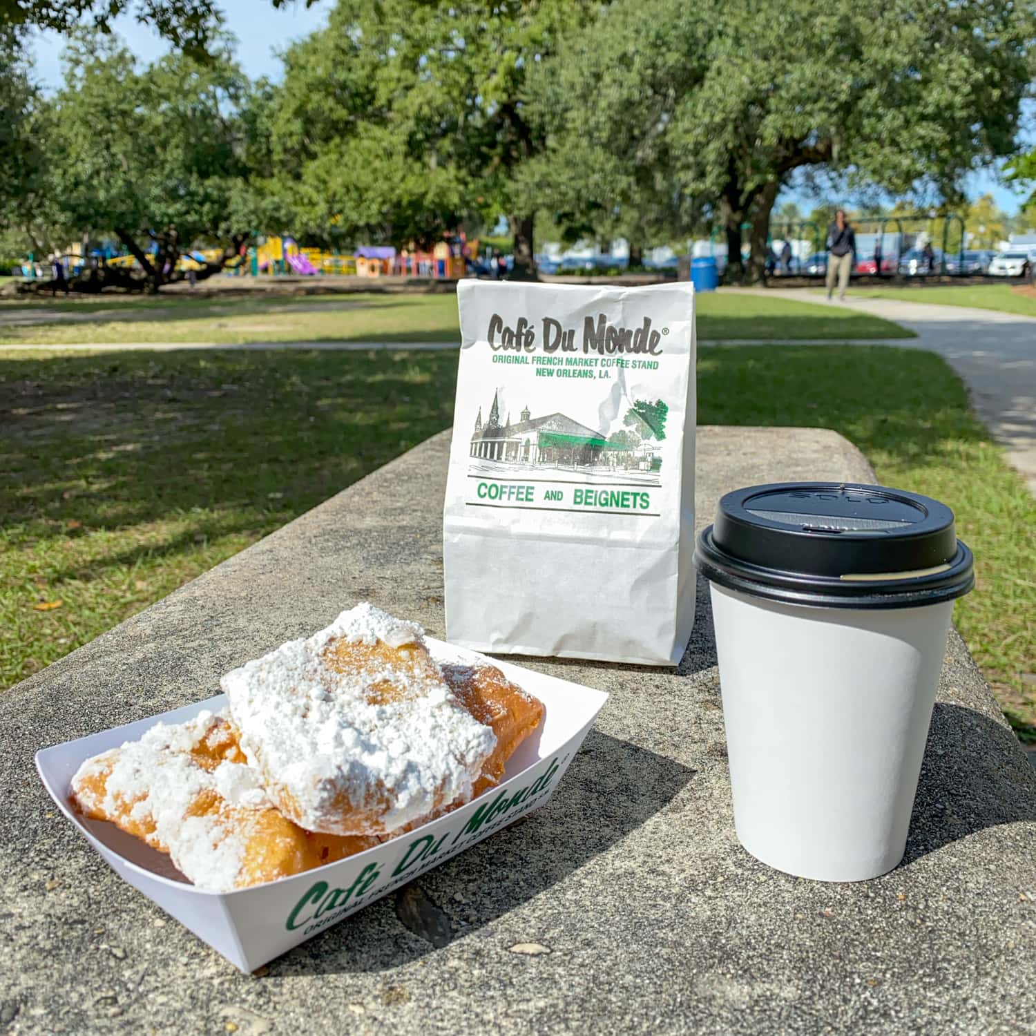
[{"label": "whole near grass area left of the bag and concrete table", "polygon": [[441,430],[456,366],[452,351],[0,358],[0,687]]}]

